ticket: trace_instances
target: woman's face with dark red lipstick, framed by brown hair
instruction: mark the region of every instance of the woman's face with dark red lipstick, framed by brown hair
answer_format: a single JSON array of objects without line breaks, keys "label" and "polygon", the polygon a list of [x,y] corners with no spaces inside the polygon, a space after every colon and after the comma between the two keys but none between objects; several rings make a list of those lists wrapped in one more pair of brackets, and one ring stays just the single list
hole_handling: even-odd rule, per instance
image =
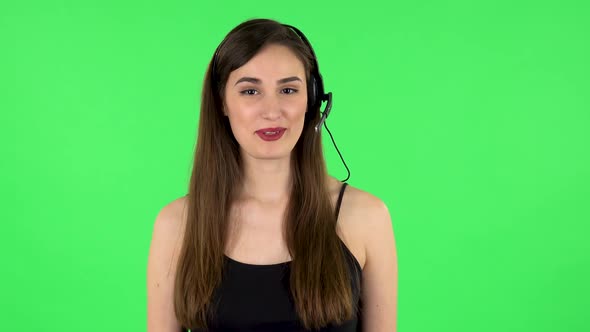
[{"label": "woman's face with dark red lipstick, framed by brown hair", "polygon": [[290,156],[303,130],[307,111],[305,82],[303,63],[282,45],[264,47],[230,73],[225,86],[224,113],[242,156],[247,154],[257,159]]}]

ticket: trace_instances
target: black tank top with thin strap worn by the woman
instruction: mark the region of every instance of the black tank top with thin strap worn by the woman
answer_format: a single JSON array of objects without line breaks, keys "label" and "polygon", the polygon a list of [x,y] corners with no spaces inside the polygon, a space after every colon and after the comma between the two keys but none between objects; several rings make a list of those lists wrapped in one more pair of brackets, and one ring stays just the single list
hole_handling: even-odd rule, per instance
[{"label": "black tank top with thin strap worn by the woman", "polygon": [[[340,211],[342,195],[347,183],[342,185],[336,204],[336,218]],[[360,285],[362,269],[348,247],[340,240],[348,263],[353,308],[353,319],[340,325],[328,325],[316,332],[358,332],[362,329],[362,299]],[[225,256],[224,278],[213,295],[215,321],[210,322],[209,332],[303,332],[289,291],[290,263],[252,265]],[[183,329],[183,331],[187,331]],[[192,332],[206,332],[203,329]]]}]

